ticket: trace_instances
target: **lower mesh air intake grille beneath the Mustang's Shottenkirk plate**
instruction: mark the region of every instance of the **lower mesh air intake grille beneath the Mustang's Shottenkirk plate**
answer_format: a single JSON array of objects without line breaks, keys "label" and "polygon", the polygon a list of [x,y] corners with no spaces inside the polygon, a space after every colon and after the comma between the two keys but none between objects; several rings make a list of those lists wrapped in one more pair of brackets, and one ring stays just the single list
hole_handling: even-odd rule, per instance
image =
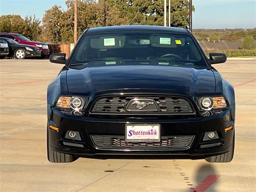
[{"label": "lower mesh air intake grille beneath the Mustang's Shottenkirk plate", "polygon": [[194,136],[162,136],[160,142],[126,142],[124,136],[91,135],[92,142],[98,148],[188,148]]}]

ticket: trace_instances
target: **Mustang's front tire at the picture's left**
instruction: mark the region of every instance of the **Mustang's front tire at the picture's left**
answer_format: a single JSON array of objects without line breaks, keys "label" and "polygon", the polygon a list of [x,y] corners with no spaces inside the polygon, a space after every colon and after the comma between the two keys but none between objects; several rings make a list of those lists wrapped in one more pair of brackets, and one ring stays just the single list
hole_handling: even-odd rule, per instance
[{"label": "Mustang's front tire at the picture's left", "polygon": [[50,135],[47,126],[47,158],[52,163],[70,163],[76,160],[74,155],[65,154],[52,150],[50,145]]}]

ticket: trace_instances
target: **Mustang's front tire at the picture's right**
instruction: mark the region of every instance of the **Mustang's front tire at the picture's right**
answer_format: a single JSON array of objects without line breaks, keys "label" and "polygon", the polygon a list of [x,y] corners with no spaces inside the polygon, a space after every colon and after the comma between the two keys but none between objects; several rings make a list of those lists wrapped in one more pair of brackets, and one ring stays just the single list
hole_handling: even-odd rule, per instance
[{"label": "Mustang's front tire at the picture's right", "polygon": [[235,148],[235,132],[232,140],[232,145],[230,146],[230,150],[228,152],[221,155],[207,157],[205,158],[205,160],[211,163],[228,163],[232,161],[234,157],[234,148]]}]

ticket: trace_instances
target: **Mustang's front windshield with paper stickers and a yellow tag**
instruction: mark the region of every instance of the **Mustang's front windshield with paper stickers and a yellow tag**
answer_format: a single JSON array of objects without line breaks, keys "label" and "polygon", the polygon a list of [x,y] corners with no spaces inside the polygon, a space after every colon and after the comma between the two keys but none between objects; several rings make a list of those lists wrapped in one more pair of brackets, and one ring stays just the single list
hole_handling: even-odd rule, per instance
[{"label": "Mustang's front windshield with paper stickers and a yellow tag", "polygon": [[159,61],[160,64],[164,61],[170,64],[179,62],[207,67],[190,35],[150,32],[85,34],[70,64],[120,60],[149,64],[151,61]]}]

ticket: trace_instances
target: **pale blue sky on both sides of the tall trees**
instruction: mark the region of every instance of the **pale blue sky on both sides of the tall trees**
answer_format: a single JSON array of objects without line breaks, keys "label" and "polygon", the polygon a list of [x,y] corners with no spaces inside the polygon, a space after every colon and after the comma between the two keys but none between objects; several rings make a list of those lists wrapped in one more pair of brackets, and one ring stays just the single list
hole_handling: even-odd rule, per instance
[{"label": "pale blue sky on both sides of the tall trees", "polygon": [[[66,9],[66,0],[0,0],[0,15],[34,15],[40,20],[55,4]],[[168,2],[168,1],[167,1]],[[256,0],[192,0],[193,28],[255,28]]]}]

